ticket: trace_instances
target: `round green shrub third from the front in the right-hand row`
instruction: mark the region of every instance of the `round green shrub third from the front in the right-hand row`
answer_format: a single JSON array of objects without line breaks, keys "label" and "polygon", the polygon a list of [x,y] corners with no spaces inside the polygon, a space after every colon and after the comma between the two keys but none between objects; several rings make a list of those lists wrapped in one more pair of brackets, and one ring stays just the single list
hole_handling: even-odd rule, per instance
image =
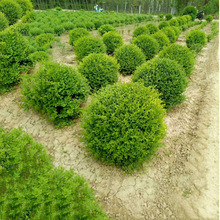
[{"label": "round green shrub third from the front in the right-hand row", "polygon": [[177,61],[183,66],[186,76],[190,76],[195,64],[194,53],[187,47],[178,44],[172,44],[159,53],[159,58],[168,58]]}]

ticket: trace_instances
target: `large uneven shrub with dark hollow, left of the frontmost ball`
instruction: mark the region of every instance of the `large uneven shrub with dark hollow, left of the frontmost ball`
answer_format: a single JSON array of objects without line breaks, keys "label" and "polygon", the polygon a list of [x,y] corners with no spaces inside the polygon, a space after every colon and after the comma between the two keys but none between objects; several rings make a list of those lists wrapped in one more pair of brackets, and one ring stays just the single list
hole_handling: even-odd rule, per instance
[{"label": "large uneven shrub with dark hollow, left of the frontmost ball", "polygon": [[89,86],[73,68],[49,62],[24,78],[21,93],[24,107],[46,114],[49,121],[61,127],[78,117]]}]

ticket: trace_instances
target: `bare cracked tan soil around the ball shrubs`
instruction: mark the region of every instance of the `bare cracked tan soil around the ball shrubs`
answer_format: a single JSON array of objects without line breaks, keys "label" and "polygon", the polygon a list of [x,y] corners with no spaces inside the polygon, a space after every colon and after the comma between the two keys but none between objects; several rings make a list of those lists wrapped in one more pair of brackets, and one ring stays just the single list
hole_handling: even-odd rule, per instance
[{"label": "bare cracked tan soil around the ball shrubs", "polygon": [[[210,28],[208,25],[204,31],[208,33]],[[183,44],[185,34],[177,43]],[[71,57],[60,52],[59,61],[69,60],[64,63],[74,65],[71,50],[65,46]],[[55,166],[73,168],[84,176],[113,219],[218,220],[218,37],[197,56],[186,96],[188,99],[167,115],[164,148],[152,162],[144,164],[144,171],[132,175],[87,156],[79,139],[79,120],[56,130],[40,114],[19,108],[19,88],[0,96],[0,125],[9,130],[22,127],[46,146]]]}]

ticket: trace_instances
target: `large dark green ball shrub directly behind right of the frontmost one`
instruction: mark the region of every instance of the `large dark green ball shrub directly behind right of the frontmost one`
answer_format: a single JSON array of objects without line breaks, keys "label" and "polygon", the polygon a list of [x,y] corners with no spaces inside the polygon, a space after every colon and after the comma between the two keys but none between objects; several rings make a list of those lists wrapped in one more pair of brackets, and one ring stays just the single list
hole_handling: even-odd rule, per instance
[{"label": "large dark green ball shrub directly behind right of the frontmost one", "polygon": [[174,60],[159,58],[148,61],[137,68],[132,80],[143,82],[146,87],[155,87],[167,110],[185,99],[183,92],[188,85],[187,77]]}]

